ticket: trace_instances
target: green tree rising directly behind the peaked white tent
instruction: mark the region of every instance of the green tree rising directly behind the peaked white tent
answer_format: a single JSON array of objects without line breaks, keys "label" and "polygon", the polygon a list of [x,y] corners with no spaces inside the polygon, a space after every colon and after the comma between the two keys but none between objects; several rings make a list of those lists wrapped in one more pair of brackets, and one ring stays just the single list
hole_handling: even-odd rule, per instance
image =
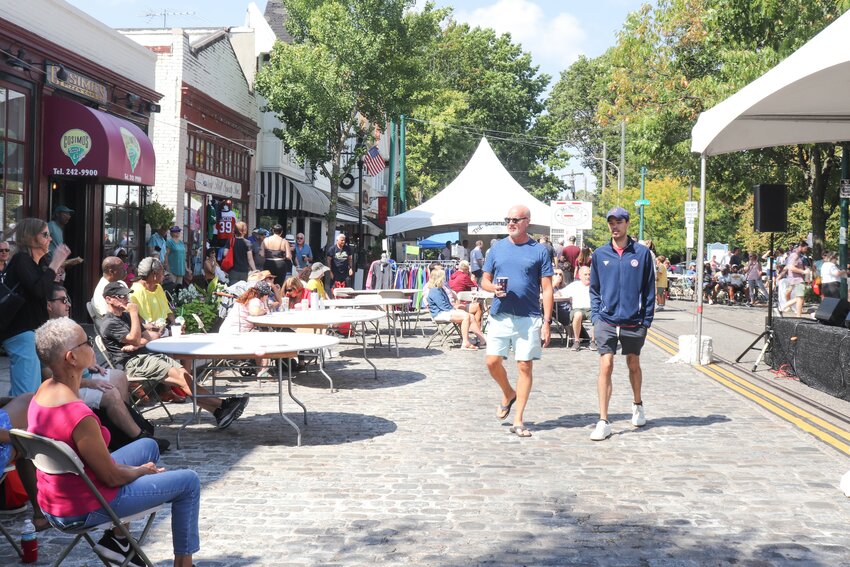
[{"label": "green tree rising directly behind the peaked white tent", "polygon": [[[537,194],[556,191],[540,160],[550,151],[536,122],[549,76],[509,34],[450,22],[428,54],[431,79],[407,130],[411,204],[454,179],[486,135],[505,168]],[[543,132],[542,134],[545,134]]]}]

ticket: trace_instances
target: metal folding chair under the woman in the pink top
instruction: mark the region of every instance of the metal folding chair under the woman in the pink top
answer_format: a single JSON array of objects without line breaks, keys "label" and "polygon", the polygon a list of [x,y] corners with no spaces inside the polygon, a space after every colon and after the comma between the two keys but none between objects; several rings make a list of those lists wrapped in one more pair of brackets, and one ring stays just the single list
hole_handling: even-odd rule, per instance
[{"label": "metal folding chair under the woman in the pink top", "polygon": [[[61,527],[59,525],[53,524],[51,525],[56,528],[58,531],[75,536],[73,541],[68,544],[67,547],[62,551],[59,557],[56,559],[56,562],[53,563],[53,567],[57,567],[65,560],[69,553],[74,549],[74,547],[80,542],[81,539],[85,539],[86,542],[91,546],[92,550],[96,542],[91,537],[91,532],[106,529],[106,528],[114,528],[118,530],[118,532],[127,538],[127,541],[130,543],[130,547],[133,548],[135,555],[141,559],[145,565],[148,567],[153,567],[153,563],[148,556],[142,551],[141,542],[144,541],[145,537],[148,535],[151,527],[153,526],[154,518],[156,517],[156,513],[162,508],[161,505],[156,506],[155,508],[151,508],[149,510],[145,510],[139,514],[134,514],[132,516],[127,516],[124,518],[119,518],[112,507],[109,505],[109,502],[103,497],[94,483],[91,481],[89,476],[85,472],[85,468],[83,467],[83,462],[77,456],[77,454],[65,443],[62,441],[56,441],[54,439],[50,439],[48,437],[42,437],[41,435],[36,435],[34,433],[30,433],[28,431],[23,431],[22,429],[12,429],[9,431],[9,435],[12,438],[12,444],[15,446],[15,449],[18,451],[19,458],[29,459],[35,464],[36,468],[45,474],[75,474],[80,477],[91,491],[92,495],[97,498],[98,503],[103,507],[104,511],[109,515],[111,520],[109,522],[104,522],[97,526],[92,526],[89,528],[84,528],[81,526],[70,526],[70,527]],[[124,526],[123,522],[130,522],[131,520],[147,518],[145,522],[145,527],[142,530],[142,534],[138,540],[136,540],[130,531]],[[100,557],[100,560],[104,563],[104,565],[111,566],[112,563],[107,561],[106,559]],[[130,559],[133,557],[133,554],[130,554],[130,557],[127,557],[122,563],[122,567],[125,567]]]}]

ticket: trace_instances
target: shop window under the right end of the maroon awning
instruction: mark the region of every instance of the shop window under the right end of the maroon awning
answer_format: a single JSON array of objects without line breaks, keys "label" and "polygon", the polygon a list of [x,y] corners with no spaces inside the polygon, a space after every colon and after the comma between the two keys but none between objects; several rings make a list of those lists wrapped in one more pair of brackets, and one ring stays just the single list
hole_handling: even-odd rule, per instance
[{"label": "shop window under the right end of the maroon awning", "polygon": [[140,242],[144,235],[139,233],[139,187],[104,185],[103,200],[104,256],[114,255],[118,247],[125,248],[129,263],[135,265],[144,253],[144,242]]}]

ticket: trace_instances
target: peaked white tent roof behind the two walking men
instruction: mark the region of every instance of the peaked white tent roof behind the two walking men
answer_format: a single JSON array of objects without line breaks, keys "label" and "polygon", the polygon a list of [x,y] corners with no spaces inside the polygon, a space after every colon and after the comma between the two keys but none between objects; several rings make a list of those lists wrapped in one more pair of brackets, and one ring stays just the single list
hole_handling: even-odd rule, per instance
[{"label": "peaked white tent roof behind the two walking men", "polygon": [[523,189],[493,153],[487,138],[481,138],[455,180],[415,209],[389,217],[387,234],[428,236],[435,229],[466,233],[469,224],[504,223],[514,205],[531,210],[529,232],[549,233],[549,206]]}]

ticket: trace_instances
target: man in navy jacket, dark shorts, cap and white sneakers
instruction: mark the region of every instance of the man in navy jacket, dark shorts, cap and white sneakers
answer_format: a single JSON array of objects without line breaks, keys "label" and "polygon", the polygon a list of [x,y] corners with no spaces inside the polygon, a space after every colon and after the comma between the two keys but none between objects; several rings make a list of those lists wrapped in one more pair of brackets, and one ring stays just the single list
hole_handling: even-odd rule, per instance
[{"label": "man in navy jacket, dark shorts, cap and white sneakers", "polygon": [[621,207],[608,211],[611,242],[597,248],[590,264],[590,320],[599,346],[599,421],[593,441],[611,436],[608,404],[617,343],[626,355],[632,384],[632,425],[646,424],[640,396],[643,374],[640,351],[655,314],[655,262],[649,248],[629,238],[629,213]]}]

